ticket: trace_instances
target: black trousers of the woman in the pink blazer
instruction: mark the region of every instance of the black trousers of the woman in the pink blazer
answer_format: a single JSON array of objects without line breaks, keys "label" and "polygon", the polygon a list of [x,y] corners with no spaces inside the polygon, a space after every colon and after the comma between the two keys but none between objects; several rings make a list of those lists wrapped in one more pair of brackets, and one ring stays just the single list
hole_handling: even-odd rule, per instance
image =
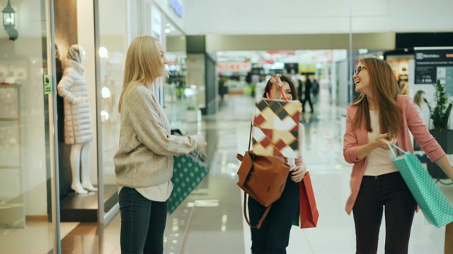
[{"label": "black trousers of the woman in the pink blazer", "polygon": [[385,206],[385,253],[408,253],[415,200],[399,172],[364,176],[352,209],[356,253],[377,253]]}]

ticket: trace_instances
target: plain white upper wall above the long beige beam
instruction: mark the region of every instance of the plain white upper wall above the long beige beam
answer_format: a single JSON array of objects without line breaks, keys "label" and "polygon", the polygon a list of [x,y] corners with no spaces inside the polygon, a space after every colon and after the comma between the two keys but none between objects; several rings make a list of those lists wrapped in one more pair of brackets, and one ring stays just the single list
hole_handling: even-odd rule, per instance
[{"label": "plain white upper wall above the long beige beam", "polygon": [[451,0],[191,0],[188,35],[441,32],[453,30]]}]

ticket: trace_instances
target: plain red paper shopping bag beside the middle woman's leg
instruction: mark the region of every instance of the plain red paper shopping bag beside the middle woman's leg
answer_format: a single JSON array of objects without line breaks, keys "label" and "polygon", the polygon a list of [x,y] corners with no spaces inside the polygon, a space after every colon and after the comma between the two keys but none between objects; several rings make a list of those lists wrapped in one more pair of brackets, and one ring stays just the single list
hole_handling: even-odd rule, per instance
[{"label": "plain red paper shopping bag beside the middle woman's leg", "polygon": [[299,184],[299,206],[300,206],[300,228],[307,229],[316,227],[318,224],[319,212],[316,208],[313,186],[309,172],[306,172],[304,179]]}]

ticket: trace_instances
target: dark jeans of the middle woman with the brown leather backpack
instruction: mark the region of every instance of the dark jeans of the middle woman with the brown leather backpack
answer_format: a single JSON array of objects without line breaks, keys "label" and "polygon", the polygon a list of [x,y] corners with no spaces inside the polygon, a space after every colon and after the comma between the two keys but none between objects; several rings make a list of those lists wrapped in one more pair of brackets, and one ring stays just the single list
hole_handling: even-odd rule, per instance
[{"label": "dark jeans of the middle woman with the brown leather backpack", "polygon": [[[289,173],[285,190],[279,200],[270,207],[260,229],[251,229],[252,253],[286,253],[289,243],[289,232],[299,207],[299,183],[290,179]],[[248,212],[252,225],[264,214],[266,207],[253,198],[248,198]]]}]

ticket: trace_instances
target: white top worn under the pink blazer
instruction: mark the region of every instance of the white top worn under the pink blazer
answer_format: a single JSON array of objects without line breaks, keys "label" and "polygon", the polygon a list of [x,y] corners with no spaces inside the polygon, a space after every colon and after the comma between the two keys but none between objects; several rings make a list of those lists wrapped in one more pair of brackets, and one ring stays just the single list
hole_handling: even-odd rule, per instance
[{"label": "white top worn under the pink blazer", "polygon": [[[369,111],[372,132],[368,133],[369,142],[375,140],[381,133],[379,127],[379,111]],[[398,171],[394,164],[390,150],[384,150],[380,147],[369,153],[367,166],[365,167],[365,176],[380,176]]]}]

